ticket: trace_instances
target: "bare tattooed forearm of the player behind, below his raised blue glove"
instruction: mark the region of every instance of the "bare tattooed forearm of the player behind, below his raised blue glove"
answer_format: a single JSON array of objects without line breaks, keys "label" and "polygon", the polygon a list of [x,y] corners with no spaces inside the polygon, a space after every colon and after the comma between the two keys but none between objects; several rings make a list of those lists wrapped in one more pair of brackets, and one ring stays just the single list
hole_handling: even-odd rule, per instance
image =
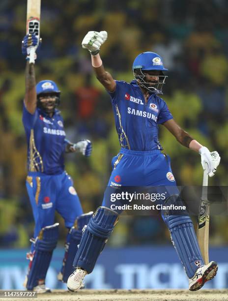
[{"label": "bare tattooed forearm of the player behind, below his raised blue glove", "polygon": [[25,105],[28,111],[33,114],[36,108],[36,81],[34,64],[26,63],[26,95]]}]

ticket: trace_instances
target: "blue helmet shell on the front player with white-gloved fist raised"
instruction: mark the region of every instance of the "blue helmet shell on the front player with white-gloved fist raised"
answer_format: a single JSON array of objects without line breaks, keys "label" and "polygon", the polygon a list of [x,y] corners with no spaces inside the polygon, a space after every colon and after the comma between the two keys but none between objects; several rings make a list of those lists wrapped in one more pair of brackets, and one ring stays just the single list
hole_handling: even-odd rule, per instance
[{"label": "blue helmet shell on the front player with white-gloved fist raised", "polygon": [[155,52],[143,52],[139,54],[133,62],[133,70],[141,69],[144,70],[161,70],[168,71],[164,68],[162,58]]}]

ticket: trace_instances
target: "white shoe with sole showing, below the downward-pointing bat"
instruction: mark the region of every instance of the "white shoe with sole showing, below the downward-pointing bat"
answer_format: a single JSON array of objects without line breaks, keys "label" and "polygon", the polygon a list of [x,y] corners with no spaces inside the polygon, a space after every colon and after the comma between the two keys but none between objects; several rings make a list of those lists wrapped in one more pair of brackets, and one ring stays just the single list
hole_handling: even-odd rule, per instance
[{"label": "white shoe with sole showing, below the downward-pointing bat", "polygon": [[201,266],[195,273],[195,275],[189,279],[189,290],[197,291],[204,283],[214,278],[218,270],[218,264],[215,261],[211,261],[208,265]]}]

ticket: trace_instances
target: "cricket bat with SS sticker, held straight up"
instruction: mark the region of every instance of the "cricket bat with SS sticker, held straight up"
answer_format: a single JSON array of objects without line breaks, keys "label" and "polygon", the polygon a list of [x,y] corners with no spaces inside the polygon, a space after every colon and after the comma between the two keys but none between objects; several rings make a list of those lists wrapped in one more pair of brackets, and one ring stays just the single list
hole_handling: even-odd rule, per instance
[{"label": "cricket bat with SS sticker, held straight up", "polygon": [[[27,0],[27,25],[26,34],[33,33],[40,38],[40,5],[41,0]],[[35,47],[31,46],[29,63],[35,62]]]}]

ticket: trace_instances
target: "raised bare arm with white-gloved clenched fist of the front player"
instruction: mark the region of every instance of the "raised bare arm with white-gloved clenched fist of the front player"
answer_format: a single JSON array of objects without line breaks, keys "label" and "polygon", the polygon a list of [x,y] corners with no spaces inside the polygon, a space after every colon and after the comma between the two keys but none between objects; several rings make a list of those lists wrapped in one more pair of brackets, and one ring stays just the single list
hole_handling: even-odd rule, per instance
[{"label": "raised bare arm with white-gloved clenched fist of the front player", "polygon": [[100,46],[106,41],[107,36],[108,34],[106,31],[89,31],[82,41],[82,46],[83,48],[88,49],[91,54],[92,66],[99,82],[105,89],[114,92],[116,83],[112,75],[105,71],[99,55]]}]

